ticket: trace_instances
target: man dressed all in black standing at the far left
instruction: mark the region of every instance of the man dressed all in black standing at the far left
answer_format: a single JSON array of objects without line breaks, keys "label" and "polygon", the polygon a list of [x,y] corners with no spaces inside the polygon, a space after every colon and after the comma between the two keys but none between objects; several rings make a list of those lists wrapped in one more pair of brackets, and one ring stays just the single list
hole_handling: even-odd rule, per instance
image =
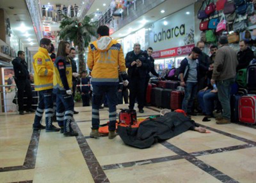
[{"label": "man dressed all in black standing at the far left", "polygon": [[18,88],[18,105],[19,105],[19,114],[24,114],[24,90],[27,94],[27,112],[35,112],[31,108],[31,101],[32,101],[32,91],[29,81],[29,70],[27,69],[27,63],[25,61],[25,52],[19,51],[18,57],[16,57],[12,61],[12,65],[14,68],[14,75],[15,75],[15,83]]}]

